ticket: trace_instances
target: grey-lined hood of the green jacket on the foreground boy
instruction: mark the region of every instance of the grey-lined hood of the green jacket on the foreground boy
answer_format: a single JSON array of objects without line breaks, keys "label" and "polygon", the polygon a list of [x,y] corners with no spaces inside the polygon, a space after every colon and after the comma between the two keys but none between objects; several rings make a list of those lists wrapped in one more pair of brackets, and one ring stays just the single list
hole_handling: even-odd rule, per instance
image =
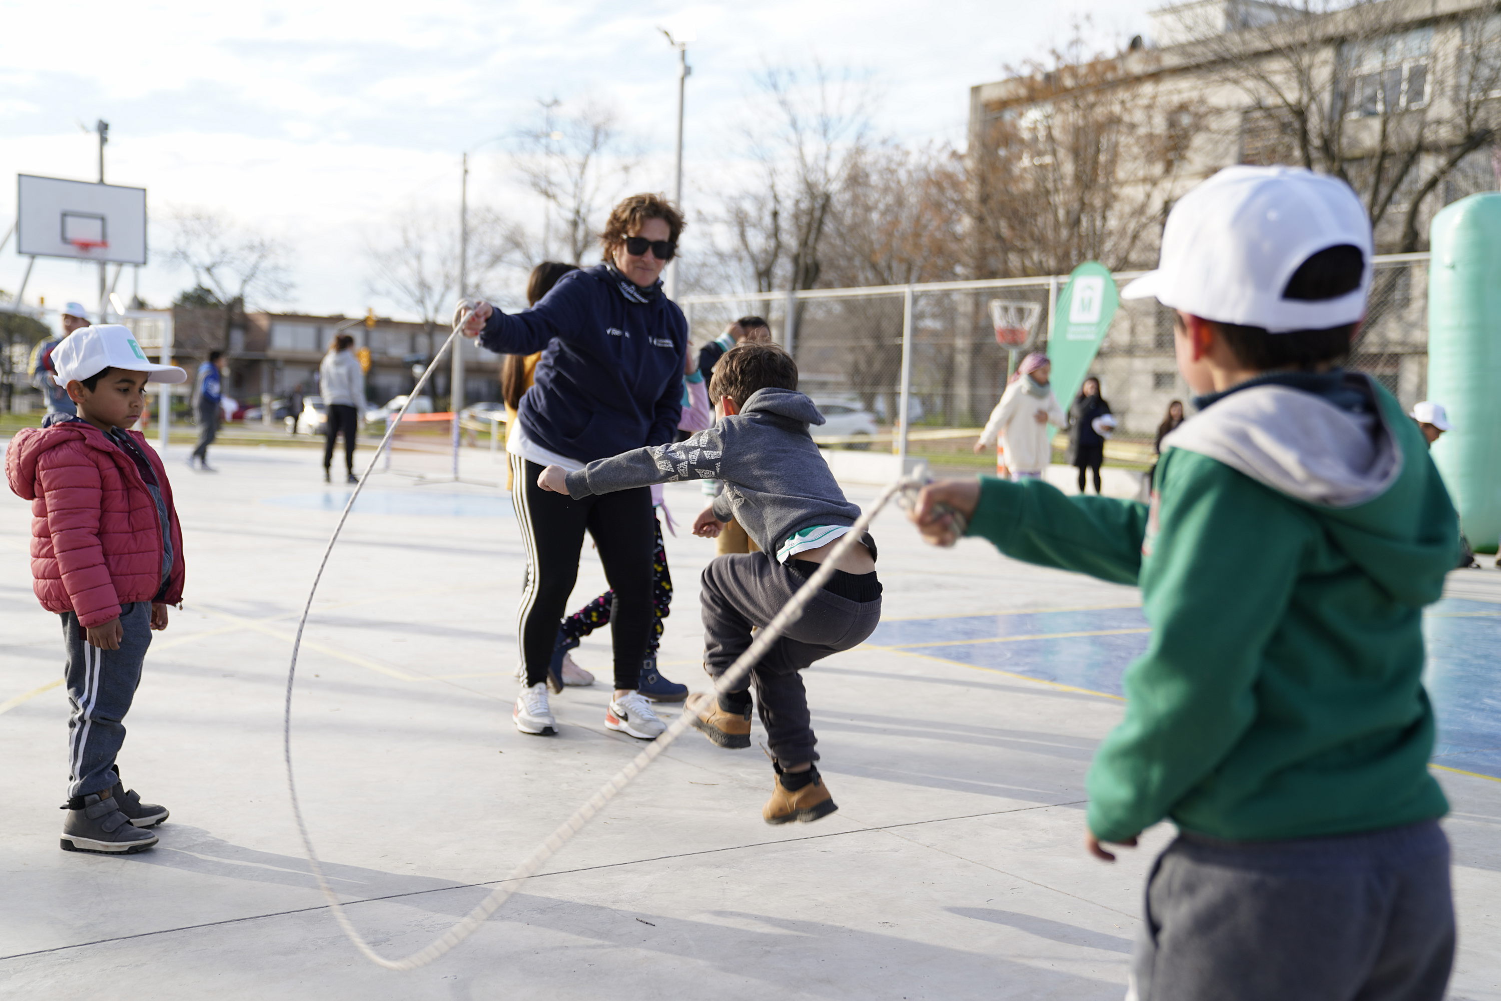
[{"label": "grey-lined hood of the green jacket on the foreground boy", "polygon": [[1393,596],[1426,605],[1457,560],[1457,516],[1417,425],[1366,375],[1255,380],[1162,440],[1303,504]]}]

